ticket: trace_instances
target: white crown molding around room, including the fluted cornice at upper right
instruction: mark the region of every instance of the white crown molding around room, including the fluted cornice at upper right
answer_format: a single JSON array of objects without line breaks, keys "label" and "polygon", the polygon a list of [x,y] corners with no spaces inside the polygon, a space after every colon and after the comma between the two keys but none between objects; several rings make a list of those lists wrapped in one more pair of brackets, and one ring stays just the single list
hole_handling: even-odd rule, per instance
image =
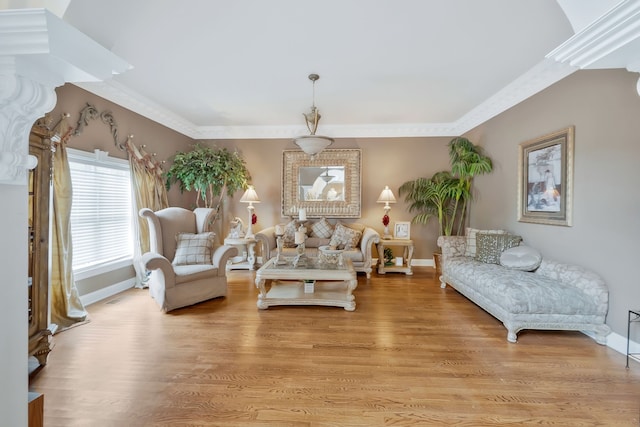
[{"label": "white crown molding around room, including the fluted cornice at upper right", "polygon": [[[332,138],[462,135],[578,69],[598,67],[640,72],[640,1],[621,2],[454,122],[324,125],[322,132]],[[303,126],[196,126],[116,82],[80,86],[193,139],[286,139],[307,133]]]}]

